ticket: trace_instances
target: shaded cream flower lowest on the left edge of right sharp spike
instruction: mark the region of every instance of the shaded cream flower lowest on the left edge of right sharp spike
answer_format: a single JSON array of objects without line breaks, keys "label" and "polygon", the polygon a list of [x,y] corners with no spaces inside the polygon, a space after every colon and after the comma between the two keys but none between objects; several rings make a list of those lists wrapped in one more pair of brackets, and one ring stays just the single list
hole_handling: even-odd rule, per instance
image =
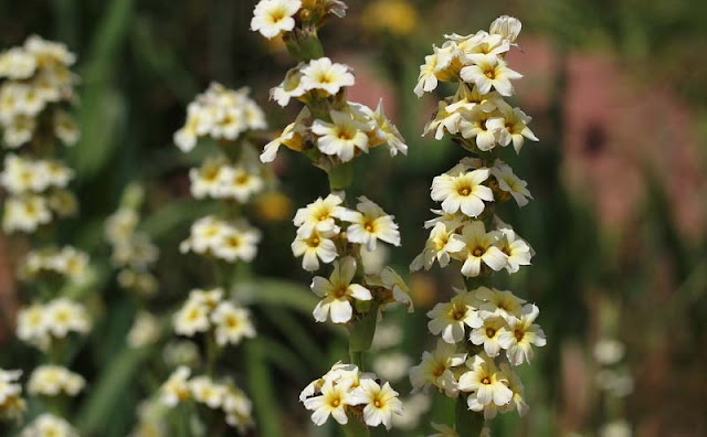
[{"label": "shaded cream flower lowest on the left edge of right sharp spike", "polygon": [[444,391],[449,397],[458,394],[457,381],[452,367],[460,366],[466,361],[466,353],[456,353],[456,344],[439,340],[436,349],[430,353],[422,353],[422,362],[410,369],[410,383],[415,390],[425,388],[430,384]]}]

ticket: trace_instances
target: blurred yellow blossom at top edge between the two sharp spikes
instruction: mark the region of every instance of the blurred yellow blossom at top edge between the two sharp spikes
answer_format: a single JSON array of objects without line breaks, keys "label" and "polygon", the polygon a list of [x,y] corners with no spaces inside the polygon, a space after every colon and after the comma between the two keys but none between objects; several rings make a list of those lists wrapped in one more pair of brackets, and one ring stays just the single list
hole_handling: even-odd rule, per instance
[{"label": "blurred yellow blossom at top edge between the two sharp spikes", "polygon": [[419,21],[415,8],[404,0],[373,1],[361,17],[361,23],[369,32],[388,31],[397,36],[411,34]]}]

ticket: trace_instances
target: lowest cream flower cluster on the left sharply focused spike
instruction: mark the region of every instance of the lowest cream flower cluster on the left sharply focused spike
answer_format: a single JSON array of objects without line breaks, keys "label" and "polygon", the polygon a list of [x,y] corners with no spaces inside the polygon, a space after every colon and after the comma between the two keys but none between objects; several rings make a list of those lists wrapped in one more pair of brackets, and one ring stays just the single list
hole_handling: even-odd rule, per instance
[{"label": "lowest cream flower cluster on the left sharply focused spike", "polygon": [[402,402],[389,383],[354,364],[338,362],[320,379],[313,381],[299,395],[305,408],[313,411],[312,420],[324,425],[329,416],[341,425],[348,414],[362,417],[368,426],[392,426],[393,415],[402,414]]}]

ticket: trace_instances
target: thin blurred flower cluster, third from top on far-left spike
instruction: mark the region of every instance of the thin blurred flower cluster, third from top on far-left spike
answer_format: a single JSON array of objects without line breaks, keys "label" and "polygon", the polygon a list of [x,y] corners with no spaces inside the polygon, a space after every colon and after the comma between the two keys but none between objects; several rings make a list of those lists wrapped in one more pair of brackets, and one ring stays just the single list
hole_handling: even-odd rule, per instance
[{"label": "thin blurred flower cluster, third from top on far-left spike", "polygon": [[73,246],[31,251],[20,263],[18,271],[18,276],[24,281],[65,277],[81,283],[86,279],[87,274],[88,255]]}]

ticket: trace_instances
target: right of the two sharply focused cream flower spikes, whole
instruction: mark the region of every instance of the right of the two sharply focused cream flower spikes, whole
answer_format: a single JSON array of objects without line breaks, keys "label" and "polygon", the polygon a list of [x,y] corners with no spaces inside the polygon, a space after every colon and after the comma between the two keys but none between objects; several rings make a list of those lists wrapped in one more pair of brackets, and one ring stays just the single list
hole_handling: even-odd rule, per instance
[{"label": "right of the two sharply focused cream flower spikes, whole", "polygon": [[[411,383],[415,388],[435,386],[483,413],[476,431],[499,412],[527,411],[513,367],[530,361],[534,345],[546,344],[534,323],[538,307],[489,286],[494,273],[517,273],[535,254],[495,214],[496,205],[510,199],[518,206],[532,199],[527,183],[497,158],[498,147],[513,143],[519,152],[526,138],[537,140],[527,127],[530,118],[504,100],[513,95],[510,81],[521,77],[504,60],[519,31],[518,20],[500,17],[489,32],[446,35],[447,42],[425,57],[415,87],[421,96],[439,82],[458,82],[455,95],[440,102],[425,134],[435,132],[437,139],[449,134],[476,158],[462,159],[432,182],[431,196],[441,210],[433,210],[436,217],[425,223],[431,233],[411,270],[456,262],[466,279],[464,289],[428,312],[430,332],[441,339],[411,370]],[[465,422],[457,417],[457,423]]]}]

